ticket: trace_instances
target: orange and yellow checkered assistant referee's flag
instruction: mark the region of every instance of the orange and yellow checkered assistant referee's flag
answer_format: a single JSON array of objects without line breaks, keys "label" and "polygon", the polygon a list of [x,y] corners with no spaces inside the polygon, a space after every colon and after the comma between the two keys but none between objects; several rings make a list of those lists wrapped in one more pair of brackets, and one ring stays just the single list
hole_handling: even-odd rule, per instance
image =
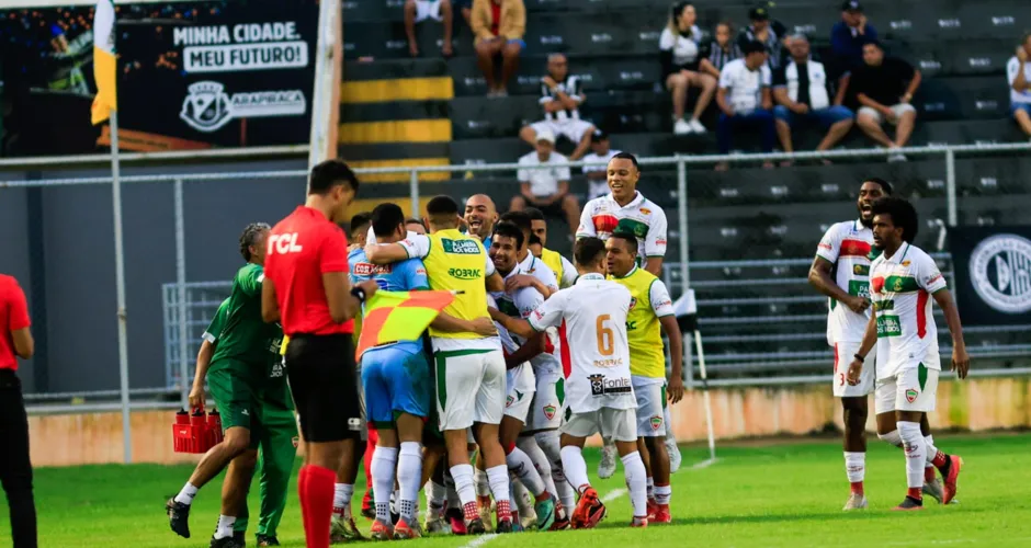
[{"label": "orange and yellow checkered assistant referee's flag", "polygon": [[418,341],[454,298],[451,292],[376,292],[365,302],[355,358],[379,344]]}]

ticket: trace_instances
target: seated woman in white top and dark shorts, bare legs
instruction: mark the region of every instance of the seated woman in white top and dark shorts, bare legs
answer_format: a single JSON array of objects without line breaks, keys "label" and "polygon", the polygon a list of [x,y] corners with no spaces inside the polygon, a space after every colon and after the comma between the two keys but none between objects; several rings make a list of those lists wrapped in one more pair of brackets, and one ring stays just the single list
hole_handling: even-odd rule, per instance
[{"label": "seated woman in white top and dark shorts, bare legs", "polygon": [[[687,2],[673,4],[669,12],[669,22],[659,37],[659,60],[662,64],[662,79],[666,89],[673,99],[673,133],[677,135],[703,134],[705,126],[699,122],[702,113],[712,102],[716,91],[716,79],[700,70],[702,31],[695,25],[698,14],[694,7]],[[688,104],[688,89],[700,88],[690,121],[683,119]]]}]

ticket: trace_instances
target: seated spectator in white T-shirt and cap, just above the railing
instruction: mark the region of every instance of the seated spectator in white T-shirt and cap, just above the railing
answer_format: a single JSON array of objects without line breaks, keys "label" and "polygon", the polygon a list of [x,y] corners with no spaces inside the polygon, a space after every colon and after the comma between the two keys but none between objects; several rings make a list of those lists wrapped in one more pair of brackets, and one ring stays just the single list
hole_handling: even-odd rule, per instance
[{"label": "seated spectator in white T-shirt and cap, just above the railing", "polygon": [[[563,165],[568,160],[555,152],[555,136],[546,129],[537,132],[536,150],[519,159],[517,178],[521,184],[520,194],[512,197],[509,209],[513,212],[534,206],[544,215],[564,216],[569,231],[576,232],[580,221],[580,205],[576,196],[569,194],[569,168]],[[535,165],[555,164],[547,169],[530,169]]]}]

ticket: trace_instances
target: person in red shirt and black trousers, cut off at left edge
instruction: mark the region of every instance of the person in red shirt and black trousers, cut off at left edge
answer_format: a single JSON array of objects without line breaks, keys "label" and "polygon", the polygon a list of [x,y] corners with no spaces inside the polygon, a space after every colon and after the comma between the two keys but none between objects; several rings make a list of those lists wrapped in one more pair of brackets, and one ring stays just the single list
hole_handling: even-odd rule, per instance
[{"label": "person in red shirt and black trousers, cut off at left edge", "polygon": [[29,307],[18,281],[0,274],[0,483],[11,506],[14,548],[36,548],[36,504],[29,460],[29,416],[18,380],[18,358],[29,359],[35,343]]}]

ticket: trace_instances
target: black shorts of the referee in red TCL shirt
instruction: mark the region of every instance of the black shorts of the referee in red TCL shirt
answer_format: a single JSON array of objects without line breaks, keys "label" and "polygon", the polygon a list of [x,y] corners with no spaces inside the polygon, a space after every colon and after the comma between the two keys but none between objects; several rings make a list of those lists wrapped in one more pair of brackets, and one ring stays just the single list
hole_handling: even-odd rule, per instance
[{"label": "black shorts of the referee in red TCL shirt", "polygon": [[286,378],[306,442],[359,438],[362,404],[350,333],[291,336],[286,346]]}]

